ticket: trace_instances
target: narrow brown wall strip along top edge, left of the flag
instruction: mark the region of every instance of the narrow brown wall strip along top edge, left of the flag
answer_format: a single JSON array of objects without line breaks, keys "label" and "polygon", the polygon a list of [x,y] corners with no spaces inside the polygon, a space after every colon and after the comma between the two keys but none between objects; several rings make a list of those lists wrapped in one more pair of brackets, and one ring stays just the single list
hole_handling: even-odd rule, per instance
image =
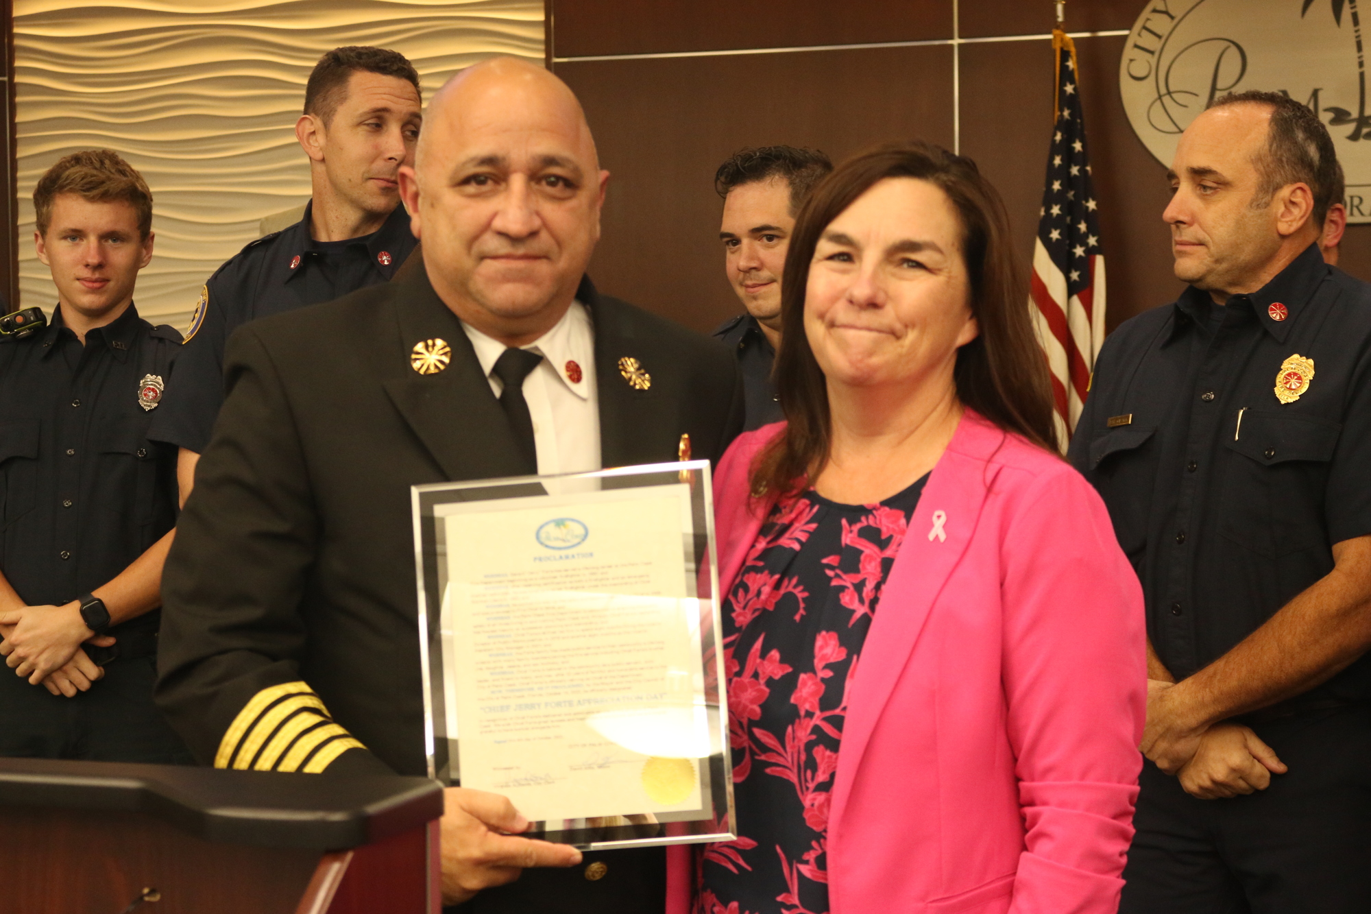
[{"label": "narrow brown wall strip along top edge, left of the flag", "polygon": [[951,0],[551,0],[553,54],[662,54],[951,37]]}]

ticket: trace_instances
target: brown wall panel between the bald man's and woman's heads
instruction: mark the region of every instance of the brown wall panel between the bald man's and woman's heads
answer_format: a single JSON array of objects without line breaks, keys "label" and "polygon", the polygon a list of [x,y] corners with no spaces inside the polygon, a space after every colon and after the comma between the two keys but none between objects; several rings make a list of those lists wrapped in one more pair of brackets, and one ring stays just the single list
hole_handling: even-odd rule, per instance
[{"label": "brown wall panel between the bald man's and woman's heads", "polygon": [[709,331],[740,310],[724,280],[714,170],[744,145],[835,159],[893,139],[951,144],[951,49],[817,51],[557,65],[610,170],[600,288]]}]

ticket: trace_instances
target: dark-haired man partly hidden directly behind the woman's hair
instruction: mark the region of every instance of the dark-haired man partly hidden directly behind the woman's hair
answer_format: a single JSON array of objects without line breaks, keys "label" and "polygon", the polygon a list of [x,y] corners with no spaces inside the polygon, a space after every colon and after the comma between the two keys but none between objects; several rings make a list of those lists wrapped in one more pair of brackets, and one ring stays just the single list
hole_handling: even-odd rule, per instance
[{"label": "dark-haired man partly hidden directly behind the woman's hair", "polygon": [[747,431],[781,419],[771,368],[780,344],[786,251],[799,207],[832,170],[834,163],[817,150],[765,145],[739,150],[714,173],[714,189],[724,198],[718,229],[724,272],[746,309],[724,321],[714,339],[733,350],[743,373]]}]

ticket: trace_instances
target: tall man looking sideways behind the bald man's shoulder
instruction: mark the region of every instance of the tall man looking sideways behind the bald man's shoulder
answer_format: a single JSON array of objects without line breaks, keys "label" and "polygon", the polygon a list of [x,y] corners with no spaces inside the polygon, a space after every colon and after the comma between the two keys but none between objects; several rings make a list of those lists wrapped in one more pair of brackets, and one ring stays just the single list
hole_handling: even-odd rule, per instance
[{"label": "tall man looking sideways behind the bald man's shoulder", "polygon": [[260,237],[200,291],[175,384],[152,423],[180,452],[181,500],[223,403],[223,344],[240,325],[385,283],[414,250],[396,174],[414,158],[420,77],[384,48],[335,48],[304,88],[295,136],[310,158],[304,218]]}]

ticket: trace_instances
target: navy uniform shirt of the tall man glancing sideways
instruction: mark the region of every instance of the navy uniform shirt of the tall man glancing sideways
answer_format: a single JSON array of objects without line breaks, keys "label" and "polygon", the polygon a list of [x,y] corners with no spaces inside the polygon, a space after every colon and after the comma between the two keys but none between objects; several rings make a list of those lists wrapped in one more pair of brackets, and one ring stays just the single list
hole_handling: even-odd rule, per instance
[{"label": "navy uniform shirt of the tall man glancing sideways", "polygon": [[315,242],[313,206],[291,228],[244,247],[206,283],[175,361],[175,386],[152,424],[154,439],[203,453],[223,403],[223,344],[233,331],[258,317],[385,283],[417,244],[403,206],[372,235]]}]

